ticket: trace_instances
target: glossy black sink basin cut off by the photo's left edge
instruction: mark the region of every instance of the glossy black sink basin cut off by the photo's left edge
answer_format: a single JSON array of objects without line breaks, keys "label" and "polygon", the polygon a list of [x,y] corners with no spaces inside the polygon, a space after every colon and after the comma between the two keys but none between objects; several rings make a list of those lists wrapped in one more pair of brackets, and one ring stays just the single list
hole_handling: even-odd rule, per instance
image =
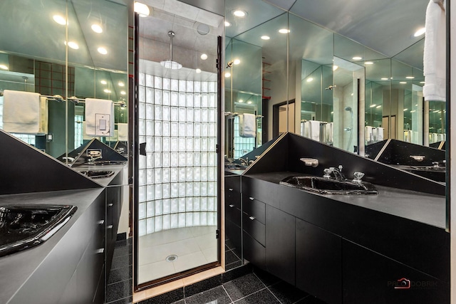
[{"label": "glossy black sink basin cut off by the photo's left edge", "polygon": [[76,206],[0,206],[0,256],[39,245],[66,224]]}]

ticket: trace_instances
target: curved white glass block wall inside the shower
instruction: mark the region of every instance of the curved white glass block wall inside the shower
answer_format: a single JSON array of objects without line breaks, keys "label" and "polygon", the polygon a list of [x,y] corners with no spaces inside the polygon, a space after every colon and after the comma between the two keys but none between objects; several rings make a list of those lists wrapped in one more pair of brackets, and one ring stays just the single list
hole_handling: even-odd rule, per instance
[{"label": "curved white glass block wall inside the shower", "polygon": [[217,224],[217,82],[140,73],[139,234]]}]

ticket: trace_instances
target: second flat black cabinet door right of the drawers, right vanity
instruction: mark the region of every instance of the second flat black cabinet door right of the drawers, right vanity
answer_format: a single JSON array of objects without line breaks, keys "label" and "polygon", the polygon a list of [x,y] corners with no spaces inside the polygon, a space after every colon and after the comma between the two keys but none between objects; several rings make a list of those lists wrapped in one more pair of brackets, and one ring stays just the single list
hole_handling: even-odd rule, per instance
[{"label": "second flat black cabinet door right of the drawers, right vanity", "polygon": [[296,219],[296,287],[327,303],[341,303],[342,238]]}]

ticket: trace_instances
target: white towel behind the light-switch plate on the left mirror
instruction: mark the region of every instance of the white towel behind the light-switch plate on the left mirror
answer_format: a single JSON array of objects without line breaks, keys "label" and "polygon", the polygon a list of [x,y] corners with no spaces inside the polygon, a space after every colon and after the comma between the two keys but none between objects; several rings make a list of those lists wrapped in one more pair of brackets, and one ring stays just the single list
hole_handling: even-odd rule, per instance
[{"label": "white towel behind the light-switch plate on the left mirror", "polygon": [[112,100],[86,98],[86,134],[114,135],[114,104]]}]

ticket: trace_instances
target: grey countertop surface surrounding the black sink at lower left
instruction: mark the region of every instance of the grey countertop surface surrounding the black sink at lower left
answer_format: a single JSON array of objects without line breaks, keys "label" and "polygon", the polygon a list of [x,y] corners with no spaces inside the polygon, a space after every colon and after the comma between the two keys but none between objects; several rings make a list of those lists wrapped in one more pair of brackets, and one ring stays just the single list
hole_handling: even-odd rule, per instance
[{"label": "grey countertop surface surrounding the black sink at lower left", "polygon": [[9,204],[56,204],[77,206],[75,214],[50,239],[33,248],[0,258],[0,303],[9,303],[17,290],[26,283],[43,260],[48,256],[63,236],[78,221],[81,215],[102,194],[103,188],[79,189],[56,192],[36,192],[0,196],[0,206]]}]

